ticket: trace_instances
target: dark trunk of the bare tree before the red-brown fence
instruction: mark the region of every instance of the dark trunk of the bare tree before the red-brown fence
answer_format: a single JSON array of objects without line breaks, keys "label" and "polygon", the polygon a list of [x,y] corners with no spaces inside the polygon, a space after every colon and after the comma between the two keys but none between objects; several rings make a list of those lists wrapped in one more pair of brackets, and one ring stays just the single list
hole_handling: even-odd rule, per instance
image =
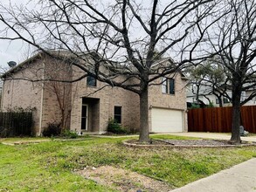
[{"label": "dark trunk of the bare tree before the red-brown fence", "polygon": [[240,98],[241,91],[239,87],[235,87],[232,91],[232,138],[231,142],[233,144],[239,144],[241,142],[240,138]]}]

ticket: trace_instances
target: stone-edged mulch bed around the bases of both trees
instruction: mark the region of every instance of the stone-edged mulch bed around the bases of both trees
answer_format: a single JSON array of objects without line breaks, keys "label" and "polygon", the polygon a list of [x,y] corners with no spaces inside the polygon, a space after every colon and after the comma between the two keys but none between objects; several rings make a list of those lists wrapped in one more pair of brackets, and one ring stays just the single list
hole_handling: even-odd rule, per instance
[{"label": "stone-edged mulch bed around the bases of both trees", "polygon": [[128,147],[241,147],[255,146],[255,142],[242,141],[239,145],[234,145],[230,141],[222,140],[151,140],[142,143],[138,140],[123,141],[123,144]]}]

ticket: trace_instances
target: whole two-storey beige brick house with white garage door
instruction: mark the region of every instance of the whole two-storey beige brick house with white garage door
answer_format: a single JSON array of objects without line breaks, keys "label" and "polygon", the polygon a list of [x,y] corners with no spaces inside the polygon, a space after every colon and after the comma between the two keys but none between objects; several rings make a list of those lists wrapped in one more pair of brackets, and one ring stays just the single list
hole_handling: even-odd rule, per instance
[{"label": "whole two-storey beige brick house with white garage door", "polygon": [[[163,62],[171,61],[158,61]],[[70,80],[82,73],[74,65],[61,64],[61,70],[60,65],[53,64],[51,58],[38,53],[4,73],[2,110],[15,106],[34,108],[34,132],[38,135],[49,123],[61,120],[63,126],[78,133],[104,133],[109,119],[117,120],[128,129],[139,129],[137,94],[107,86],[90,76],[72,84],[42,81],[52,75]],[[186,79],[180,72],[166,78],[158,79],[157,86],[149,87],[149,131],[185,132]]]}]

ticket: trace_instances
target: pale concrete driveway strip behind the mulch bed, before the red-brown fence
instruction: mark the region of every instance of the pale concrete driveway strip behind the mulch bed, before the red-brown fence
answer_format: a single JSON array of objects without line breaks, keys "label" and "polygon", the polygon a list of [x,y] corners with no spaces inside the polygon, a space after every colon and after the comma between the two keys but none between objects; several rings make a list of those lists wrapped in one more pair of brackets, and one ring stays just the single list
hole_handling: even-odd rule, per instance
[{"label": "pale concrete driveway strip behind the mulch bed, before the red-brown fence", "polygon": [[[231,139],[231,134],[218,134],[218,133],[187,132],[187,133],[164,133],[164,134],[186,136],[186,137],[198,137],[203,139],[214,139],[214,140],[230,140]],[[241,140],[256,142],[256,136],[241,137]]]}]

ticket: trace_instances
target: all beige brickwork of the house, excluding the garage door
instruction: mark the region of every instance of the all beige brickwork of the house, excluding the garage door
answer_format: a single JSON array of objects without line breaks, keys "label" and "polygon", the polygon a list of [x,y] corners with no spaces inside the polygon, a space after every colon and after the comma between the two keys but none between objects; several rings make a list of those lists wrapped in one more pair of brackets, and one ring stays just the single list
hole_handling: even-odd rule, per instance
[{"label": "all beige brickwork of the house, excluding the garage door", "polygon": [[[46,62],[45,62],[46,60]],[[61,119],[58,98],[51,89],[47,89],[49,82],[32,83],[27,80],[17,80],[18,77],[34,78],[34,68],[49,67],[49,60],[40,58],[32,61],[24,69],[12,73],[13,79],[6,79],[3,82],[2,109],[13,108],[14,106],[34,107],[34,130],[37,134],[47,127],[48,123],[58,122]],[[47,65],[45,65],[47,64]],[[50,70],[51,71],[51,70]],[[41,76],[42,72],[39,73]],[[73,66],[72,72],[66,76],[69,78],[79,77],[80,70]],[[38,75],[38,74],[37,74]],[[45,75],[45,74],[44,74]],[[187,130],[186,123],[186,99],[185,80],[182,75],[175,75],[175,94],[162,93],[161,79],[159,85],[149,87],[149,131],[151,130],[152,107],[163,107],[183,112],[184,130]],[[66,88],[67,89],[67,88]],[[107,130],[109,119],[114,118],[114,106],[121,106],[121,125],[128,129],[138,130],[140,127],[139,96],[119,87],[107,86],[106,83],[97,81],[97,86],[86,86],[86,78],[69,84],[72,90],[66,100],[66,110],[70,112],[69,126],[71,130],[81,131],[82,106],[87,106],[87,131],[102,133]],[[83,103],[84,102],[84,103]]]}]

